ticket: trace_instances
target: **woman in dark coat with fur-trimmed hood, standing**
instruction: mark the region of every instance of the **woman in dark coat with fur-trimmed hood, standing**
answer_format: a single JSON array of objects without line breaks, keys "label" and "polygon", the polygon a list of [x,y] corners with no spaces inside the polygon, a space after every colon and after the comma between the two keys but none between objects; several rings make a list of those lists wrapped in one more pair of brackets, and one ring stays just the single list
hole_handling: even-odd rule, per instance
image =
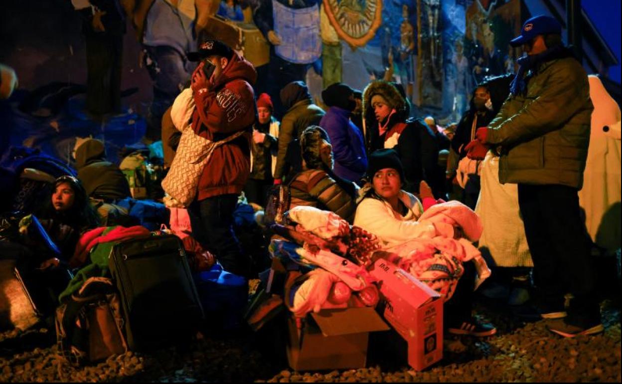
[{"label": "woman in dark coat with fur-trimmed hood, standing", "polygon": [[409,118],[409,112],[406,98],[394,85],[384,80],[369,83],[363,91],[367,151],[395,149],[406,173],[404,190],[418,194],[419,183],[425,180],[435,197],[440,197],[439,144],[427,124]]}]

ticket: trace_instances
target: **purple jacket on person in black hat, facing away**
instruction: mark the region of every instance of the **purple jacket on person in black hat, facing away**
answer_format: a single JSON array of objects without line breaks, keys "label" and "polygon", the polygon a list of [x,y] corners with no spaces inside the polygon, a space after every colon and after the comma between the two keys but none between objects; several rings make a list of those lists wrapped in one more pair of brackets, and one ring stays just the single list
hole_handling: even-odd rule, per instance
[{"label": "purple jacket on person in black hat, facing away", "polygon": [[320,126],[333,146],[335,174],[349,181],[360,180],[367,170],[367,155],[363,135],[350,121],[350,111],[332,106],[320,120]]}]

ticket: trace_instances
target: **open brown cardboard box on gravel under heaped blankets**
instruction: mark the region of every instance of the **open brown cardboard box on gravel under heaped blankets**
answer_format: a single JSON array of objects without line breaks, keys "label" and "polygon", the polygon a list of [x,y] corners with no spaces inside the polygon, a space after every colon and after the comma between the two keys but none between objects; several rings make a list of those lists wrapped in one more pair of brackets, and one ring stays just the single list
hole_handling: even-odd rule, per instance
[{"label": "open brown cardboard box on gravel under heaped blankets", "polygon": [[287,360],[297,371],[364,368],[369,332],[388,330],[373,308],[322,310],[305,317],[302,329],[293,316],[289,332]]}]

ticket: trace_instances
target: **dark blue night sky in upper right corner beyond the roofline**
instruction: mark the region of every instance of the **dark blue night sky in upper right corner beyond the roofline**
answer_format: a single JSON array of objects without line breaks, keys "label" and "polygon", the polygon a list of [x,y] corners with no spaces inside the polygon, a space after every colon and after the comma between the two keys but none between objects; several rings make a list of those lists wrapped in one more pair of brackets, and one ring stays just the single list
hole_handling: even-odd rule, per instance
[{"label": "dark blue night sky in upper right corner beyond the roofline", "polygon": [[620,0],[583,0],[581,5],[618,59],[609,77],[620,83]]}]

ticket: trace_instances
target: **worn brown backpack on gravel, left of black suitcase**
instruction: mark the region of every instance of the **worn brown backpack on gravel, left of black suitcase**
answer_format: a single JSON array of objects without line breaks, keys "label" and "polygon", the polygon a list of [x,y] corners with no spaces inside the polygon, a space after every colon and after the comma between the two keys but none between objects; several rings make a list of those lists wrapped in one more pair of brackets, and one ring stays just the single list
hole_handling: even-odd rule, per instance
[{"label": "worn brown backpack on gravel, left of black suitcase", "polygon": [[86,279],[56,310],[58,350],[74,364],[96,362],[124,354],[128,344],[123,335],[121,300],[109,278]]}]

